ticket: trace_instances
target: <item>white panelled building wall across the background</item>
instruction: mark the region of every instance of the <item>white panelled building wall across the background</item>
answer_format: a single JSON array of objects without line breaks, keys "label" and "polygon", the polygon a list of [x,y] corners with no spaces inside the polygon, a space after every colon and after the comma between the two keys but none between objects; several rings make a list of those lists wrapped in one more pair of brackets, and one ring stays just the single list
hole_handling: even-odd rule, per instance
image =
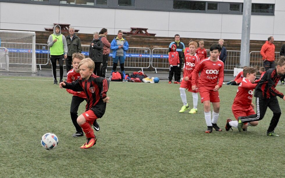
[{"label": "white panelled building wall across the background", "polygon": [[[285,1],[252,0],[252,3],[275,3],[275,15],[252,15],[250,39],[266,40],[272,35],[277,41],[285,41]],[[177,17],[183,18],[177,20]],[[173,37],[178,33],[181,37],[201,39],[241,39],[242,31],[242,15],[0,2],[1,29],[44,31],[44,27],[53,27],[53,23],[71,24],[80,33],[92,34],[107,28],[114,35],[118,30],[142,27],[156,36]]]}]

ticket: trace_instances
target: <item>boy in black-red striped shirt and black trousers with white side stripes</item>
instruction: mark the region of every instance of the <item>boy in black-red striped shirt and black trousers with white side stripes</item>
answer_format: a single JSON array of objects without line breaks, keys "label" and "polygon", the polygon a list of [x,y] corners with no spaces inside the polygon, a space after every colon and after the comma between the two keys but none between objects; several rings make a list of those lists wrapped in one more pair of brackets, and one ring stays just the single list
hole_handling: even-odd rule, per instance
[{"label": "boy in black-red striped shirt and black trousers with white side stripes", "polygon": [[275,134],[274,129],[278,124],[281,116],[281,109],[278,104],[277,96],[285,100],[284,94],[275,89],[278,81],[285,74],[285,57],[279,58],[276,68],[268,69],[258,82],[255,88],[254,96],[256,97],[257,114],[250,116],[238,117],[238,130],[241,132],[243,123],[259,121],[263,118],[267,107],[273,112],[270,125],[267,130],[268,136],[279,136]]}]

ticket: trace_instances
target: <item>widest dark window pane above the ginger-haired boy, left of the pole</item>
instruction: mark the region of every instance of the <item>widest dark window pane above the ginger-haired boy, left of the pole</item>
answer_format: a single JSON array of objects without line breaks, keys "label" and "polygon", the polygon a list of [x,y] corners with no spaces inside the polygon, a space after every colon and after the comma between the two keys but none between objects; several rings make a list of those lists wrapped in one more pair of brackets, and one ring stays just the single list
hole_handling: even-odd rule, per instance
[{"label": "widest dark window pane above the ginger-haired boy, left of the pole", "polygon": [[206,2],[204,1],[173,1],[173,9],[175,10],[206,10]]}]

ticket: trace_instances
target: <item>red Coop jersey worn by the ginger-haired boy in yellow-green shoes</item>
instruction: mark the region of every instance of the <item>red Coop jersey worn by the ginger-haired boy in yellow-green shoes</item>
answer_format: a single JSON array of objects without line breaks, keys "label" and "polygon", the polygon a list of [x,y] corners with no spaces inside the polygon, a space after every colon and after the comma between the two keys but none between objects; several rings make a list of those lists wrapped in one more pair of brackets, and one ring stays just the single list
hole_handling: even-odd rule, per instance
[{"label": "red Coop jersey worn by the ginger-haired boy in yellow-green shoes", "polygon": [[193,56],[190,53],[185,55],[185,63],[184,63],[184,73],[183,78],[188,76],[191,79],[191,73],[194,71],[195,66],[199,64],[200,59],[199,56],[195,53]]}]

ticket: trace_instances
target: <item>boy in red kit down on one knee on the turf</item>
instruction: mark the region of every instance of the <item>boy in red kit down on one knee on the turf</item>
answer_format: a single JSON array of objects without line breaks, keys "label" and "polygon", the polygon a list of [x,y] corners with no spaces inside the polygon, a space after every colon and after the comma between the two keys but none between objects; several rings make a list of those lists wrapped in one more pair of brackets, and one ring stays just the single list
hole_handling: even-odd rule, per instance
[{"label": "boy in red kit down on one knee on the turf", "polygon": [[[238,86],[238,91],[231,107],[236,121],[232,121],[230,118],[228,118],[225,126],[226,131],[229,131],[231,127],[238,128],[237,120],[239,116],[249,116],[251,114],[255,114],[253,109],[254,104],[252,103],[252,94],[253,89],[255,89],[257,84],[253,84],[252,82],[254,82],[256,76],[256,69],[253,67],[245,67],[243,68],[243,73],[245,74],[245,77]],[[257,124],[258,121],[244,123],[242,129],[243,131],[246,131],[247,125],[256,126]]]}]

